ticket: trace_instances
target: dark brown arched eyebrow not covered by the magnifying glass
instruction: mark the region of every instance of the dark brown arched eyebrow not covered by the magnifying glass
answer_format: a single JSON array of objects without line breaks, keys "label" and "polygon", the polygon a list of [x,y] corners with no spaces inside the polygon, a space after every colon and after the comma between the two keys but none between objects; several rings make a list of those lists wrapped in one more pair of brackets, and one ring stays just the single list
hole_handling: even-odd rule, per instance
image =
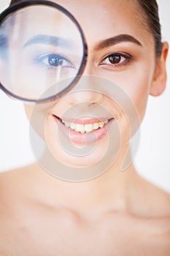
[{"label": "dark brown arched eyebrow not covered by the magnifying glass", "polygon": [[103,48],[107,48],[107,47],[112,46],[112,45],[117,45],[120,42],[133,42],[136,45],[139,45],[139,46],[143,47],[142,43],[139,42],[138,39],[131,36],[130,34],[119,34],[115,37],[110,37],[108,39],[101,40],[94,47],[94,50],[101,50]]}]

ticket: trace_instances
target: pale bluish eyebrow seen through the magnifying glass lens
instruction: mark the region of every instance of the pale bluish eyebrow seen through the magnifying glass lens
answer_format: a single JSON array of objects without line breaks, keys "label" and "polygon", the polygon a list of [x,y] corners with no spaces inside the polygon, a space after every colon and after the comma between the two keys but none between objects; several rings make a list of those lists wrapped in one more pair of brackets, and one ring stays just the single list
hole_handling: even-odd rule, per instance
[{"label": "pale bluish eyebrow seen through the magnifying glass lens", "polygon": [[46,34],[37,34],[34,37],[28,39],[28,41],[23,45],[23,48],[26,48],[34,44],[44,44],[52,46],[62,46],[63,48],[73,48],[73,43],[71,40],[64,39],[62,37],[55,37]]}]

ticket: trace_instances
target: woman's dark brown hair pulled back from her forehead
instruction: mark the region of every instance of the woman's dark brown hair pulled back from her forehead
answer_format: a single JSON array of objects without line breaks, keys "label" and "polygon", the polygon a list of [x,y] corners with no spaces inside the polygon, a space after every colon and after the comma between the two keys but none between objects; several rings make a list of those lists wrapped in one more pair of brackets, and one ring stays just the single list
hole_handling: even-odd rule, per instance
[{"label": "woman's dark brown hair pulled back from her forehead", "polygon": [[[15,4],[20,0],[11,0],[10,4]],[[158,57],[161,56],[162,42],[161,42],[161,24],[158,15],[158,4],[156,0],[136,0],[142,8],[142,12],[147,19],[147,25],[155,39],[155,51]]]}]

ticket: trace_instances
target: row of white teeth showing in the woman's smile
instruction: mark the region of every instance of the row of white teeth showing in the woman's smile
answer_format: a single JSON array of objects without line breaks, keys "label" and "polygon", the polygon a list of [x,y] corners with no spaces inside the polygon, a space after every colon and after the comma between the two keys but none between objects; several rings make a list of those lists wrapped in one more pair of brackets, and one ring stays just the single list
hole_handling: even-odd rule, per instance
[{"label": "row of white teeth showing in the woman's smile", "polygon": [[69,123],[63,120],[61,121],[63,124],[66,125],[67,128],[73,129],[74,131],[81,132],[81,133],[92,132],[95,129],[104,127],[104,124],[107,124],[109,122],[108,120],[106,120],[106,121],[100,121],[94,124],[75,124],[75,123]]}]

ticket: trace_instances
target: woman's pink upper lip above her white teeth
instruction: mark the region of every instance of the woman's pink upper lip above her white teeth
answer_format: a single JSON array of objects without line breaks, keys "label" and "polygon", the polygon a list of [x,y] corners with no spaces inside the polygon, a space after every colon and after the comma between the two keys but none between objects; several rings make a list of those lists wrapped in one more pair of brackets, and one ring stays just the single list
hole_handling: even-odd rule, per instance
[{"label": "woman's pink upper lip above her white teeth", "polygon": [[100,121],[107,121],[109,119],[113,119],[113,117],[90,117],[90,116],[85,116],[81,118],[60,118],[59,116],[53,115],[63,121],[66,121],[68,123],[74,123],[74,124],[95,124]]}]

